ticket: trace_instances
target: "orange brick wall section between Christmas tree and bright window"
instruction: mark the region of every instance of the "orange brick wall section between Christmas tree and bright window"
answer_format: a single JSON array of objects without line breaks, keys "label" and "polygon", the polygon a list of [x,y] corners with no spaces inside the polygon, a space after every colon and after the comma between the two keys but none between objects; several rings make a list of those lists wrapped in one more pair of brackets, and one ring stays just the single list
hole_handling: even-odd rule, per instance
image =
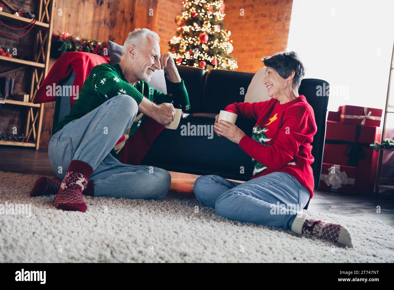
[{"label": "orange brick wall section between Christmas tree and bright window", "polygon": [[[224,23],[231,31],[238,71],[255,73],[261,58],[287,47],[292,0],[225,0]],[[240,15],[244,9],[244,16]]]}]

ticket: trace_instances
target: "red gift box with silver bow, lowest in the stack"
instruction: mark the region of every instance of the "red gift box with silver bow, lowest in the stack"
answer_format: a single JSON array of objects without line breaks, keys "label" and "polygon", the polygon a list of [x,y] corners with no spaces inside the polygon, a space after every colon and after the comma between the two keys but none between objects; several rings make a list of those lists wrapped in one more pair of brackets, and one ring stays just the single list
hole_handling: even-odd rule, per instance
[{"label": "red gift box with silver bow, lowest in the stack", "polygon": [[353,193],[356,178],[356,167],[322,164],[319,190]]}]

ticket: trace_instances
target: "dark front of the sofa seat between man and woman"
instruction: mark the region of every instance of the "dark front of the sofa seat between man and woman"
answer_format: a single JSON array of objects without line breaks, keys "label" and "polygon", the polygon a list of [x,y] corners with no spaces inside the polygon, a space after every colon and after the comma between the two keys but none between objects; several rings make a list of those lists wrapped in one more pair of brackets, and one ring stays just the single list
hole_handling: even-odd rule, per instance
[{"label": "dark front of the sofa seat between man and woman", "polygon": [[[176,130],[164,129],[154,141],[151,150],[145,155],[141,164],[170,171],[199,175],[219,174],[224,178],[249,180],[253,171],[251,157],[238,144],[227,138],[219,137],[212,131],[214,117],[210,120],[209,118],[197,120],[191,115],[193,114],[181,118]],[[255,120],[240,119],[237,120],[236,125],[251,137],[255,122]],[[184,135],[185,129],[192,129],[193,126],[210,126],[209,132],[212,135]],[[195,133],[198,131],[199,129]],[[208,127],[205,131],[208,132]],[[173,140],[173,142],[168,142],[168,140]],[[174,147],[174,144],[177,146]],[[163,152],[168,154],[163,154]],[[241,167],[244,170],[241,170]]]}]

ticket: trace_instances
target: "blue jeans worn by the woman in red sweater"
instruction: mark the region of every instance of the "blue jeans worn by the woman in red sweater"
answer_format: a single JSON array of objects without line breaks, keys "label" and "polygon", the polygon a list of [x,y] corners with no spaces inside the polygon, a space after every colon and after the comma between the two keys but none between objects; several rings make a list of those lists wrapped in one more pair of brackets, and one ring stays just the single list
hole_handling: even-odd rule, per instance
[{"label": "blue jeans worn by the woman in red sweater", "polygon": [[285,230],[292,228],[297,211],[302,211],[310,197],[308,189],[285,172],[245,183],[205,175],[197,178],[193,190],[199,202],[215,208],[221,217]]}]

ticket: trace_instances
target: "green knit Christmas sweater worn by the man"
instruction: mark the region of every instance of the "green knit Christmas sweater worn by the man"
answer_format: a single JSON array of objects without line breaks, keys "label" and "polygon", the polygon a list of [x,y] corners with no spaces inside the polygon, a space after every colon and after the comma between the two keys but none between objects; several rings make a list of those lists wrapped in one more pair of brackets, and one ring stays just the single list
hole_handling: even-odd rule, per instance
[{"label": "green knit Christmas sweater worn by the man", "polygon": [[[190,103],[184,81],[181,79],[181,82],[169,83],[171,95],[164,94],[151,88],[147,82],[142,80],[132,86],[125,79],[119,63],[114,65],[96,65],[87,76],[81,92],[78,95],[78,99],[76,99],[74,105],[72,105],[70,113],[65,116],[63,120],[56,123],[52,135],[72,120],[81,118],[99,107],[108,99],[122,94],[130,95],[130,97],[136,100],[138,105],[145,96],[156,104],[172,103],[175,108],[188,112],[190,110]],[[136,118],[138,121],[134,122],[131,128],[126,131],[125,140],[117,144],[111,150],[115,158],[118,158],[117,155],[125,145],[125,142],[137,131],[138,127],[143,122],[145,115],[142,114],[142,116],[139,116],[140,114],[141,113],[137,115],[139,118]]]}]

